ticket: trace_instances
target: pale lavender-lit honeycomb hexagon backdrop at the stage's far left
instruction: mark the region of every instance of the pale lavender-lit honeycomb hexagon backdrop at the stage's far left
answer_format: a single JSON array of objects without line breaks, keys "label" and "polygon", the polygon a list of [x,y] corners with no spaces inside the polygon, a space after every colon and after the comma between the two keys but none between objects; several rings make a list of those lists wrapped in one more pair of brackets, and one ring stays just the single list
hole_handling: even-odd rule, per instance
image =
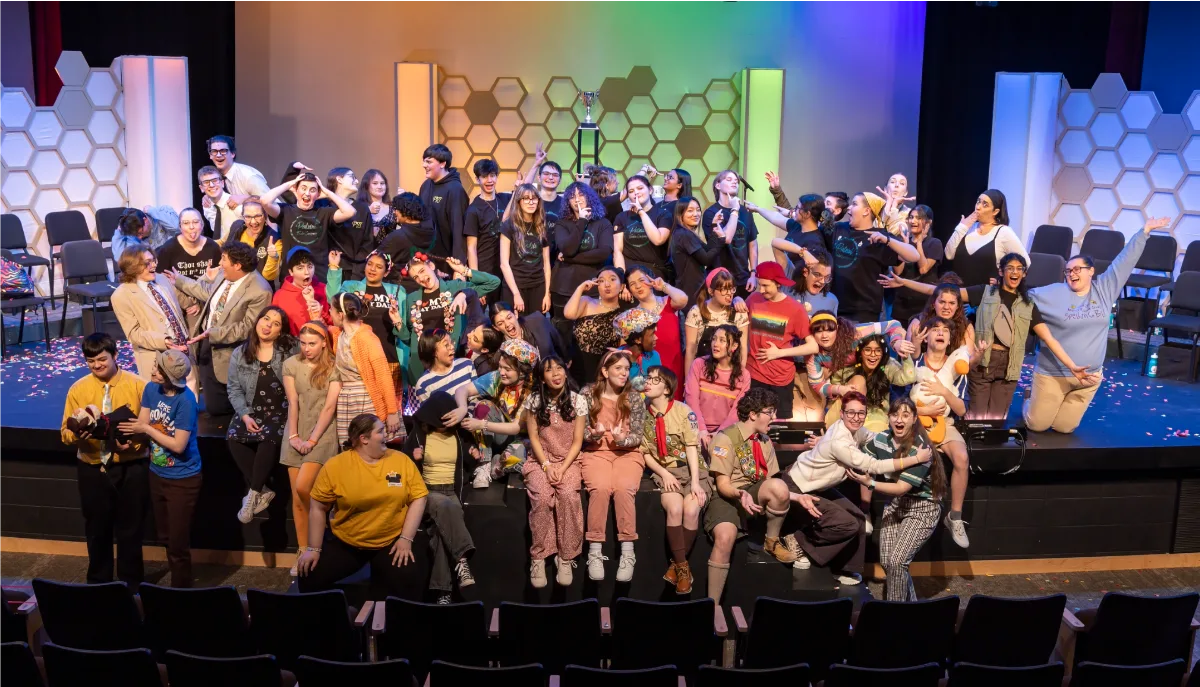
[{"label": "pale lavender-lit honeycomb hexagon backdrop at the stage's far left", "polygon": [[[0,213],[20,219],[30,252],[49,255],[46,215],[79,210],[96,232],[96,210],[126,205],[125,118],[120,58],[89,67],[64,52],[62,90],[35,107],[25,89],[0,88]],[[44,289],[46,268],[34,276]]]}]

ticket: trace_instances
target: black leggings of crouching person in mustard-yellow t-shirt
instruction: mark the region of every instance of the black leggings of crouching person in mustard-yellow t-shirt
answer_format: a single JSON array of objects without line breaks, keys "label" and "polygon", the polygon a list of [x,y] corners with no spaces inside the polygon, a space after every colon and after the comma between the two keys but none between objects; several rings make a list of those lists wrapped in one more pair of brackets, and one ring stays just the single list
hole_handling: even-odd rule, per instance
[{"label": "black leggings of crouching person in mustard-yellow t-shirt", "polygon": [[430,538],[425,532],[418,531],[413,539],[415,539],[413,556],[416,560],[404,566],[395,566],[389,552],[392,544],[383,549],[359,549],[329,532],[322,544],[317,566],[307,575],[298,579],[300,591],[331,590],[342,578],[370,564],[370,598],[379,601],[395,596],[407,601],[421,601],[430,580]]}]

